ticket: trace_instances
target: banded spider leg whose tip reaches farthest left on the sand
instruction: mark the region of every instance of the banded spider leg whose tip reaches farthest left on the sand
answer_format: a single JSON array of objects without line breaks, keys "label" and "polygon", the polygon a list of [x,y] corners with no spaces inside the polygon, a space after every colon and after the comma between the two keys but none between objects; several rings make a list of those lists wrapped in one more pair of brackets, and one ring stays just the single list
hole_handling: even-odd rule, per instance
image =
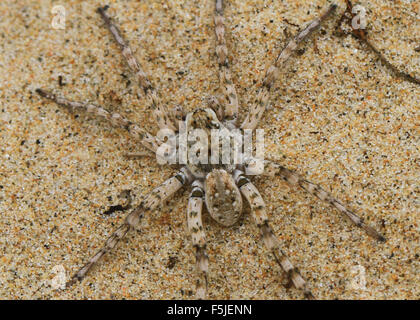
[{"label": "banded spider leg whose tip reaches farthest left on the sand", "polygon": [[131,121],[123,118],[119,113],[110,113],[109,111],[105,110],[102,107],[98,107],[96,105],[78,101],[71,101],[63,97],[59,97],[52,92],[43,90],[43,89],[36,89],[36,92],[44,98],[47,98],[51,101],[54,101],[59,106],[67,108],[70,112],[76,112],[77,110],[83,110],[87,113],[92,113],[97,117],[106,119],[112,125],[120,128],[126,129],[132,136],[137,139],[140,139],[142,145],[156,153],[159,145],[161,142],[156,139],[156,137],[152,136],[150,133],[141,129],[136,124],[132,123]]}]

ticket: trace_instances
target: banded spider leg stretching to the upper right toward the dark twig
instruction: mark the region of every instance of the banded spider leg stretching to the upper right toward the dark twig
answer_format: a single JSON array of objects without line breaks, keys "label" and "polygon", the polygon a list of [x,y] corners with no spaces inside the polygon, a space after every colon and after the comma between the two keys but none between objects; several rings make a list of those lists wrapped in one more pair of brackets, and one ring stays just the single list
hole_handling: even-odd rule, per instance
[{"label": "banded spider leg stretching to the upper right toward the dark twig", "polygon": [[300,31],[280,52],[274,63],[267,69],[262,85],[258,90],[257,97],[254,104],[251,105],[247,117],[241,125],[242,129],[255,129],[258,121],[261,119],[267,107],[270,98],[270,89],[278,78],[280,70],[290,56],[296,51],[299,43],[309,37],[320,24],[337,8],[336,4],[332,4],[319,17],[315,18],[307,24],[307,26]]}]

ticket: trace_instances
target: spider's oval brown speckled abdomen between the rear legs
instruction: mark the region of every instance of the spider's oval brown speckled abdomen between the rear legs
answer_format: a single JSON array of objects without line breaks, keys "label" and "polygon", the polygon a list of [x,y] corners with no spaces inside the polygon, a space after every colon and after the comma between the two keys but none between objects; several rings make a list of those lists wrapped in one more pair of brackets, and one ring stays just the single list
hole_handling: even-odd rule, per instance
[{"label": "spider's oval brown speckled abdomen between the rear legs", "polygon": [[207,210],[211,217],[228,227],[238,221],[242,213],[242,197],[231,174],[213,169],[204,184]]}]

